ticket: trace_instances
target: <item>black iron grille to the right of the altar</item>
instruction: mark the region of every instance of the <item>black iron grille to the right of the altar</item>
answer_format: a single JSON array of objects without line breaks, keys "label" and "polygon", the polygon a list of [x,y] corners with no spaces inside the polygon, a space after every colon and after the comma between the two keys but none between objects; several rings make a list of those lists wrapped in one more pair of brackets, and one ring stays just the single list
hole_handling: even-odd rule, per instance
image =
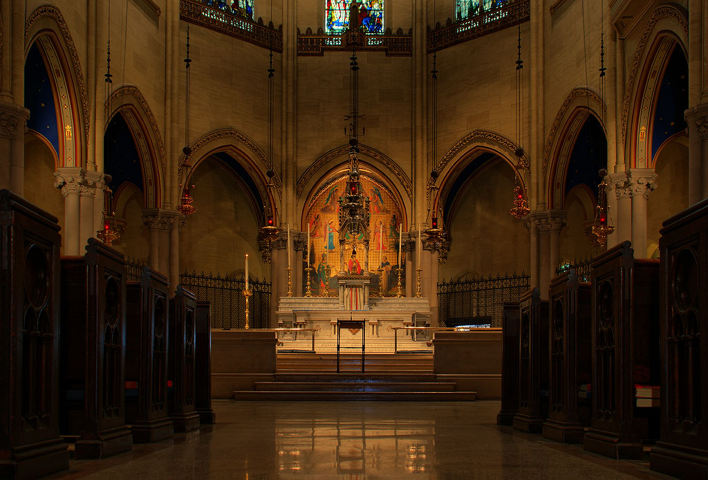
[{"label": "black iron grille to the right of the altar", "polygon": [[440,326],[491,325],[501,327],[503,302],[518,302],[529,289],[530,276],[489,275],[438,283]]}]

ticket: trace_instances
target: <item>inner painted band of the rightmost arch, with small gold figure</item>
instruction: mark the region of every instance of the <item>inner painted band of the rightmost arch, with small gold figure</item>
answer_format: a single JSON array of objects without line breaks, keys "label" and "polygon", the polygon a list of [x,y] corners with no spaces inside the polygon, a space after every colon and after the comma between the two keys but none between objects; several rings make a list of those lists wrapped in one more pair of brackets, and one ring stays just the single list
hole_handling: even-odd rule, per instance
[{"label": "inner painted band of the rightmost arch, with small gold figure", "polygon": [[628,120],[627,128],[630,137],[629,142],[624,146],[625,152],[628,153],[625,162],[627,168],[647,168],[652,163],[651,138],[656,101],[666,66],[675,48],[681,48],[685,55],[680,39],[673,33],[663,30],[656,34],[651,47],[647,50],[632,102],[632,118]]}]

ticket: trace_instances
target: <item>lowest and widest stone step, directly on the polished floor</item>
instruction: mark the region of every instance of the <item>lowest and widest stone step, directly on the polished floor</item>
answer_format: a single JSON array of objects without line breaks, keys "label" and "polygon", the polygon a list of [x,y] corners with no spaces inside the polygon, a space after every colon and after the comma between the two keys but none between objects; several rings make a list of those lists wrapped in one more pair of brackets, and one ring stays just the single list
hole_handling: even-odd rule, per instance
[{"label": "lowest and widest stone step, directly on the polished floor", "polygon": [[234,392],[234,400],[249,401],[474,401],[475,392]]}]

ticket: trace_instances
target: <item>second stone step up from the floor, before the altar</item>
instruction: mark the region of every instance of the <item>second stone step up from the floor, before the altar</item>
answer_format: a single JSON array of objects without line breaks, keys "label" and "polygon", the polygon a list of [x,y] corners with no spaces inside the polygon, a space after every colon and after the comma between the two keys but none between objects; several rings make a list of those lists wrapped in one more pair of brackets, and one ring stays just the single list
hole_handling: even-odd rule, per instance
[{"label": "second stone step up from the floor, before the altar", "polygon": [[455,392],[455,382],[253,382],[258,392]]}]

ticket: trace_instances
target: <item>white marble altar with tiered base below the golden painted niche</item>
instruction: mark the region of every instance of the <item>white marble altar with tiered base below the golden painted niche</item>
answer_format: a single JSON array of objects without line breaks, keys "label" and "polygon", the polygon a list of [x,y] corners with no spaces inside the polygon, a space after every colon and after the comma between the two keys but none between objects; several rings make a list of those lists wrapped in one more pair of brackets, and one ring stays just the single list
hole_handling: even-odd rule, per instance
[{"label": "white marble altar with tiered base below the golden painted niche", "polygon": [[[430,304],[427,298],[371,297],[365,309],[344,309],[340,297],[281,297],[278,303],[279,328],[314,330],[318,353],[334,353],[337,345],[337,321],[363,321],[366,325],[367,353],[393,353],[394,327],[430,326]],[[355,329],[353,329],[355,330]],[[399,351],[430,351],[432,336],[414,335],[410,329],[398,333]],[[312,351],[312,331],[280,331],[278,350]],[[342,343],[360,345],[358,331],[343,334]]]}]

